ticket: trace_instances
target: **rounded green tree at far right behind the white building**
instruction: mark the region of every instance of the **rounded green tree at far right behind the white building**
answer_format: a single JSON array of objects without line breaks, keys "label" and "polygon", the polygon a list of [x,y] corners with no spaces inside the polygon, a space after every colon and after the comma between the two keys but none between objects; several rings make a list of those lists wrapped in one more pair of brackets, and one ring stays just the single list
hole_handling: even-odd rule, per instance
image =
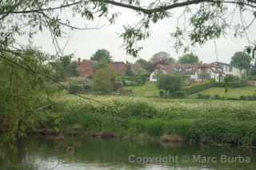
[{"label": "rounded green tree at far right behind the white building", "polygon": [[230,65],[249,71],[251,60],[252,58],[250,55],[239,51],[234,53],[234,55],[231,57]]}]

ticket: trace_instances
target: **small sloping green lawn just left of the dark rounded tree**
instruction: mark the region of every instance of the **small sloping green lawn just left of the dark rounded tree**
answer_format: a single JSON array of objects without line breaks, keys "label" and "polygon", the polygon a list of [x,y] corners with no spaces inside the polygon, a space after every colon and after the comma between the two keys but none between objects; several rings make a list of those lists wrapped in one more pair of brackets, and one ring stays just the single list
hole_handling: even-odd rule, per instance
[{"label": "small sloping green lawn just left of the dark rounded tree", "polygon": [[136,97],[154,97],[159,95],[156,83],[146,82],[141,86],[128,86],[122,89],[132,89]]}]

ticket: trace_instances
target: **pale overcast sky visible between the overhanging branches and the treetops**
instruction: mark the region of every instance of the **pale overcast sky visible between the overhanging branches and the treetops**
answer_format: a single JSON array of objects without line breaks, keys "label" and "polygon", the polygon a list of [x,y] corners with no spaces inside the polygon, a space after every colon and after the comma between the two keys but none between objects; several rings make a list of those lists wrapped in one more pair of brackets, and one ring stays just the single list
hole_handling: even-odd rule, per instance
[{"label": "pale overcast sky visible between the overhanging branches and the treetops", "polygon": [[[97,49],[108,49],[113,56],[114,61],[136,61],[138,58],[126,55],[125,49],[122,48],[122,38],[118,37],[118,33],[122,33],[122,26],[126,23],[132,24],[138,22],[138,17],[135,16],[131,10],[124,10],[122,8],[114,8],[115,11],[121,13],[114,26],[104,26],[101,30],[75,30],[70,31],[69,41],[66,44],[65,53],[74,53],[75,57],[90,59],[90,56],[95,53]],[[174,31],[177,26],[177,17],[181,10],[172,11],[173,17],[162,20],[157,24],[151,25],[151,37],[142,42],[143,49],[140,57],[149,60],[154,53],[165,51],[170,53],[171,57],[178,58],[182,53],[176,53],[170,33]],[[69,18],[69,17],[68,17]],[[250,21],[251,16],[245,15],[247,22]],[[87,22],[80,18],[72,18],[71,23],[74,26],[90,26],[103,25],[105,22]],[[256,39],[256,24],[251,26],[248,35],[251,40]],[[66,39],[59,40],[60,45],[66,43]],[[234,38],[227,34],[226,38],[219,38],[217,42],[218,61],[230,62],[230,57],[239,50],[243,50],[248,45],[247,38]],[[49,53],[54,53],[54,45],[51,42],[49,33],[38,34],[34,38],[34,44]],[[192,51],[198,55],[200,61],[209,63],[217,61],[215,53],[214,41],[207,42],[206,45],[197,46]]]}]

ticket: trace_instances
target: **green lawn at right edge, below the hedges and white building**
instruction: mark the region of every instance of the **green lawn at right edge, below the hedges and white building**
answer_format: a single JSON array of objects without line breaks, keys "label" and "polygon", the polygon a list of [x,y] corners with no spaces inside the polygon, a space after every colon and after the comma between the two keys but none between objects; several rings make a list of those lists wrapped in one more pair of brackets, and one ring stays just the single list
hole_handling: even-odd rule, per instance
[{"label": "green lawn at right edge, below the hedges and white building", "polygon": [[[256,87],[243,87],[238,89],[228,89],[228,93],[225,94],[225,88],[210,88],[199,92],[204,95],[219,95],[227,98],[239,98],[240,96],[251,96],[255,94]],[[198,93],[192,94],[189,97],[197,97]]]}]

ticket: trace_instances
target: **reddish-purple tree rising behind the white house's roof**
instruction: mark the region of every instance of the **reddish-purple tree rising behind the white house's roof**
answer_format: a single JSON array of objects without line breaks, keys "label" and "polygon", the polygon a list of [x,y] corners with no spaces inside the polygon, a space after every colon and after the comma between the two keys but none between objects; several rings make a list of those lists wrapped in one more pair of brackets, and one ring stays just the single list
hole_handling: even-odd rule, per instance
[{"label": "reddish-purple tree rising behind the white house's roof", "polygon": [[175,59],[173,57],[170,57],[170,53],[166,53],[166,52],[155,53],[153,57],[150,58],[150,61],[154,65],[158,65],[158,64],[167,65],[167,64],[175,63]]}]

